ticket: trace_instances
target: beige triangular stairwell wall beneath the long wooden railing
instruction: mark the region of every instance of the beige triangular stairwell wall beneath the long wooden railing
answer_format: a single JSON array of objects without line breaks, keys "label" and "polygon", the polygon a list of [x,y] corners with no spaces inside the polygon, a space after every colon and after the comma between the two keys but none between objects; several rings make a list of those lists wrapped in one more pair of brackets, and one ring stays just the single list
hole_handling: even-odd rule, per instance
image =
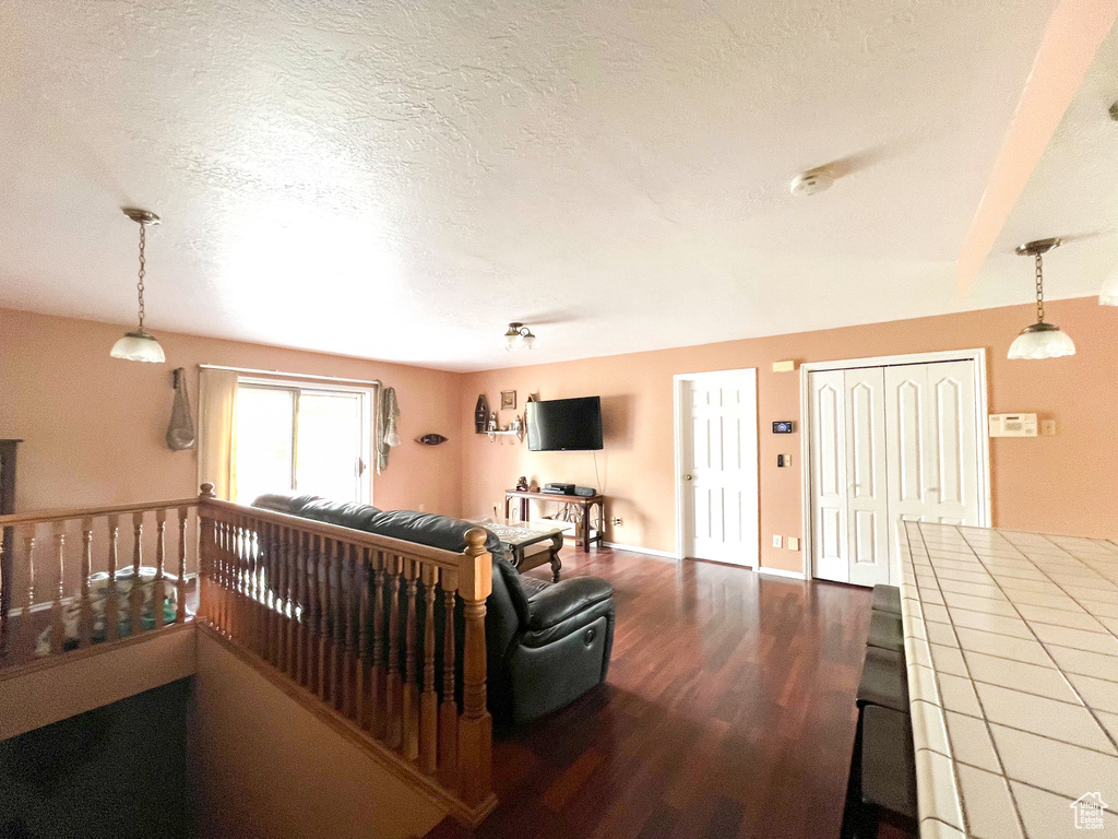
[{"label": "beige triangular stairwell wall beneath the long wooden railing", "polygon": [[446,816],[205,631],[197,634],[190,756],[200,836],[407,839]]}]

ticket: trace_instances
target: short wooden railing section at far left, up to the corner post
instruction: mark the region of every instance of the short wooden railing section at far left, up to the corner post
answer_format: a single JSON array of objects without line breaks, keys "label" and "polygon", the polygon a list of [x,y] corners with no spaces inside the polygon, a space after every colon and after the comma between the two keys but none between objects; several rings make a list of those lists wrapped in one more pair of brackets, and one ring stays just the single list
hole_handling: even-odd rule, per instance
[{"label": "short wooden railing section at far left, up to the corner post", "polygon": [[10,558],[2,565],[12,569],[0,578],[8,604],[0,613],[0,664],[186,621],[187,556],[193,553],[188,529],[197,505],[190,498],[0,516],[3,556]]}]

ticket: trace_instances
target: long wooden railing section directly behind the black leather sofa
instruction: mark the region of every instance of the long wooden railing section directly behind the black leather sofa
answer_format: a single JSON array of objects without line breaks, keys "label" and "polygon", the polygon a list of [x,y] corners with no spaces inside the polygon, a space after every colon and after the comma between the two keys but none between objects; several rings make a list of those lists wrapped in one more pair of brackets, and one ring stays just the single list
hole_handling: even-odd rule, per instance
[{"label": "long wooden railing section directly behind the black leather sofa", "polygon": [[496,803],[485,532],[461,554],[210,497],[199,619],[301,686],[459,820]]}]

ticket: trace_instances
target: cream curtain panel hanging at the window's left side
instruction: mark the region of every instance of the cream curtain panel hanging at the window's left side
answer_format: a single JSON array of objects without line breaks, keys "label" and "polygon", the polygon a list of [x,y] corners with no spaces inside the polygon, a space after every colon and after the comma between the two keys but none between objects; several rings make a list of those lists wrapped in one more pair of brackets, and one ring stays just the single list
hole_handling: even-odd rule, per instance
[{"label": "cream curtain panel hanging at the window's left side", "polygon": [[198,386],[198,483],[237,498],[237,383],[233,370],[202,369]]}]

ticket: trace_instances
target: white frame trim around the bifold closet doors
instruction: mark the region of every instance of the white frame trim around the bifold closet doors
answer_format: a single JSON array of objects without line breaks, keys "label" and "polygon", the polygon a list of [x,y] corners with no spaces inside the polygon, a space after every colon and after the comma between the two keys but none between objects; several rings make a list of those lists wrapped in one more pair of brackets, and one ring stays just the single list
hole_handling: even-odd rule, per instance
[{"label": "white frame trim around the bifold closet doors", "polygon": [[811,462],[811,374],[817,370],[847,370],[858,367],[894,367],[898,365],[934,364],[936,361],[974,361],[975,365],[975,427],[978,431],[978,481],[982,492],[978,497],[978,527],[989,527],[993,518],[989,491],[989,395],[986,385],[986,350],[944,350],[940,352],[913,352],[903,356],[873,356],[849,358],[840,361],[805,361],[799,366],[799,473],[802,482],[802,521],[804,549],[804,578],[815,578],[812,562],[812,462]]}]

